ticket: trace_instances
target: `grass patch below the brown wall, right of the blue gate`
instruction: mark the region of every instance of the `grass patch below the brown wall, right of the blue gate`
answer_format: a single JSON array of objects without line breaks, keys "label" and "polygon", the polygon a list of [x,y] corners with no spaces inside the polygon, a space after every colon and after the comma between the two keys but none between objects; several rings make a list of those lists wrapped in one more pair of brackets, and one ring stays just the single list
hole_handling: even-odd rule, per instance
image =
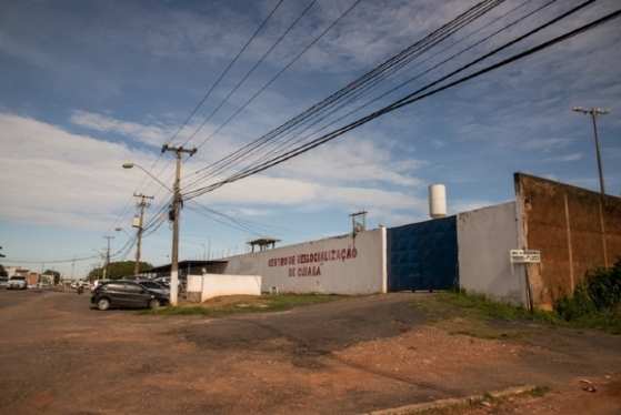
[{"label": "grass patch below the brown wall, right of the blue gate", "polygon": [[[567,321],[555,312],[530,312],[521,306],[464,292],[438,293],[413,305],[424,311],[449,333],[479,338],[522,337],[542,327],[595,328],[621,334],[621,318],[618,314],[593,313]],[[463,324],[464,320],[468,324]]]}]

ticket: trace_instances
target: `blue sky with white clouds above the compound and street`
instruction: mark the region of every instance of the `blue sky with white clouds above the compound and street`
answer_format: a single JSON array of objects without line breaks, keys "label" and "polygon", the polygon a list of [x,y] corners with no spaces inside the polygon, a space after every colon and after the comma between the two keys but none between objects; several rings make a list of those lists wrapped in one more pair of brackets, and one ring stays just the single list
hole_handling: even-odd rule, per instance
[{"label": "blue sky with white clouds above the compound and street", "polygon": [[[369,97],[547,2],[501,2]],[[353,4],[353,0],[315,1],[190,141],[188,145],[199,145],[209,138],[183,162],[182,189],[191,189],[184,183],[193,182],[198,169],[281,125],[475,3],[361,0],[219,129]],[[562,0],[543,8],[342,122],[392,102],[579,3]],[[161,154],[161,145],[183,125],[276,4],[276,0],[1,1],[3,264],[82,276],[101,262],[104,235],[114,236],[112,252],[127,246],[137,212],[132,194],[154,195],[147,210],[151,217],[169,193],[138,168],[124,170],[122,163],[134,162],[172,184],[174,161],[171,154]],[[173,143],[181,144],[218,108],[309,4],[310,0],[280,4]],[[471,71],[618,8],[615,0],[595,1]],[[188,202],[181,216],[180,257],[240,253],[259,235],[289,244],[342,234],[350,231],[349,214],[360,210],[369,212],[369,227],[425,220],[431,183],[447,185],[452,213],[512,200],[517,171],[598,190],[592,125],[588,117],[571,111],[575,105],[611,110],[598,120],[598,128],[607,192],[620,195],[620,43],[621,20],[613,20]],[[234,217],[244,229],[223,224],[226,220],[206,214],[200,205]],[[143,260],[170,261],[170,225],[163,223],[144,239]],[[126,251],[117,259],[133,257],[133,250]],[[72,257],[89,259],[74,267],[70,262],[51,264]]]}]

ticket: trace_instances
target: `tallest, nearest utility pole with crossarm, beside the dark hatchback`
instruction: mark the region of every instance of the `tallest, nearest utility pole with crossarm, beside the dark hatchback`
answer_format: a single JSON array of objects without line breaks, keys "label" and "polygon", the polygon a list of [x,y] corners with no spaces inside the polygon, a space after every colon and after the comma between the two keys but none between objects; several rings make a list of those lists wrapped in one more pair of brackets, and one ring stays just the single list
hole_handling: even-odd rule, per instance
[{"label": "tallest, nearest utility pole with crossarm, beside the dark hatchback", "polygon": [[171,151],[177,156],[174,184],[172,186],[172,206],[169,219],[172,221],[172,252],[170,264],[170,305],[177,305],[179,291],[179,214],[181,213],[181,156],[183,153],[192,156],[197,149],[183,149],[183,146],[162,145],[162,153]]}]

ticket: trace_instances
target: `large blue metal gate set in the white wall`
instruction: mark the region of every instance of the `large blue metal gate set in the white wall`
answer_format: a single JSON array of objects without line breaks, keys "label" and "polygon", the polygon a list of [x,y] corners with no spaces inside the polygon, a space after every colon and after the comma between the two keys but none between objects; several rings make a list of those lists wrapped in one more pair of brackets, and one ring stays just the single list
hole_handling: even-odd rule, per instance
[{"label": "large blue metal gate set in the white wall", "polygon": [[455,216],[390,227],[387,239],[389,291],[458,285]]}]

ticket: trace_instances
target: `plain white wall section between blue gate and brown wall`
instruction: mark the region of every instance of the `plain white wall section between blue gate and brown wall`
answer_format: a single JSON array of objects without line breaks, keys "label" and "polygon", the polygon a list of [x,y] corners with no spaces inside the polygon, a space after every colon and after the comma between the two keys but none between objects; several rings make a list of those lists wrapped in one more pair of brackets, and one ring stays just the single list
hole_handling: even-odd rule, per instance
[{"label": "plain white wall section between blue gate and brown wall", "polygon": [[518,247],[515,202],[460,213],[457,221],[460,286],[525,305],[523,265],[509,261]]}]

